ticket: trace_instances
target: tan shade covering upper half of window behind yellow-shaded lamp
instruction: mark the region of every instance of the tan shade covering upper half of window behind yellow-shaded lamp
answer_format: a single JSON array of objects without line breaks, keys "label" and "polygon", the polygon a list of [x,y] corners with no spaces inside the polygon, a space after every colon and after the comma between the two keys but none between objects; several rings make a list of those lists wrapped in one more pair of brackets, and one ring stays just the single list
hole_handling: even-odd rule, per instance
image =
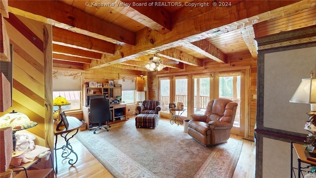
[{"label": "tan shade covering upper half of window behind yellow-shaded lamp", "polygon": [[53,91],[80,91],[81,72],[53,70]]}]

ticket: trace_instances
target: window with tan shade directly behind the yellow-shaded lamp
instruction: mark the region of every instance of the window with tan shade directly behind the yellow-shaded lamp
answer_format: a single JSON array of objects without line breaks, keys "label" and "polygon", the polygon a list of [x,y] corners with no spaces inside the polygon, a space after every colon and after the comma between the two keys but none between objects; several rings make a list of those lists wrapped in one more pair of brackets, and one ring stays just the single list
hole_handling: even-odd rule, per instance
[{"label": "window with tan shade directly behind the yellow-shaded lamp", "polygon": [[[64,111],[81,110],[81,72],[53,70],[53,99],[57,96],[71,103],[61,106]],[[53,106],[53,110],[58,108]]]}]

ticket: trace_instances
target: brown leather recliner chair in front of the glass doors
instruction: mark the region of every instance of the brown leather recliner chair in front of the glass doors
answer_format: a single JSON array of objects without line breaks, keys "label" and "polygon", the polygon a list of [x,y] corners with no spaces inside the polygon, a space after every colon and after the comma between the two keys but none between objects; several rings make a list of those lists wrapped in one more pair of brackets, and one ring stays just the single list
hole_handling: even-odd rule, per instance
[{"label": "brown leather recliner chair in front of the glass doors", "polygon": [[225,98],[209,101],[204,115],[191,114],[188,134],[204,146],[226,142],[233,127],[237,105]]}]

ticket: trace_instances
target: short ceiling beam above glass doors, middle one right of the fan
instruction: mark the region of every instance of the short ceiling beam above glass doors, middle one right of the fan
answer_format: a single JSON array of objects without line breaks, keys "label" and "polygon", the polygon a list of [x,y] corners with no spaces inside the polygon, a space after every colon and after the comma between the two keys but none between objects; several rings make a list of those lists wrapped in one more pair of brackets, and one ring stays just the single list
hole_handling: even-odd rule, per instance
[{"label": "short ceiling beam above glass doors, middle one right of the fan", "polygon": [[188,43],[184,46],[191,48],[216,62],[227,64],[227,55],[205,39],[193,43]]}]

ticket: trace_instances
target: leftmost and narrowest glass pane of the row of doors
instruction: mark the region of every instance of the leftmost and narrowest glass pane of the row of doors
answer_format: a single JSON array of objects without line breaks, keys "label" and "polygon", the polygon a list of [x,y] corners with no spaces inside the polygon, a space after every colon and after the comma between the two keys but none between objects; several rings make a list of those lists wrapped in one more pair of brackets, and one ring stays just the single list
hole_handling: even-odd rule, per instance
[{"label": "leftmost and narrowest glass pane of the row of doors", "polygon": [[160,112],[169,112],[170,80],[160,80]]}]

